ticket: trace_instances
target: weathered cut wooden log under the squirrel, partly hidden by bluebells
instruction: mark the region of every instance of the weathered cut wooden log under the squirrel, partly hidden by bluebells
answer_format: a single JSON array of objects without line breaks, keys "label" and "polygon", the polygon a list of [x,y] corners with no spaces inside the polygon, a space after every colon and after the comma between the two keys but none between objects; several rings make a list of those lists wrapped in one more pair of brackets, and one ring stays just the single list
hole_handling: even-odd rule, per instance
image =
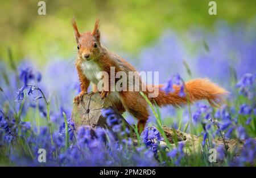
[{"label": "weathered cut wooden log under the squirrel, partly hidden by bluebells", "polygon": [[[72,121],[75,123],[76,128],[79,126],[88,125],[92,128],[102,127],[112,129],[106,123],[106,118],[102,116],[101,109],[111,107],[118,113],[115,109],[112,102],[107,98],[101,99],[100,94],[97,93],[89,93],[84,95],[83,100],[77,105],[73,104],[72,111]],[[123,124],[129,130],[133,130],[133,127],[128,124],[128,122],[123,118],[121,114],[118,115],[119,118],[123,119]],[[172,146],[175,147],[174,139],[177,139],[179,142],[186,143],[191,149],[184,149],[185,152],[189,152],[192,150],[193,152],[202,151],[201,141],[202,139],[197,137],[196,135],[188,134],[181,132],[180,130],[168,128],[167,126],[163,126],[164,133],[166,134],[168,141]],[[134,134],[133,134],[134,135]],[[133,137],[134,142],[136,143],[136,137]],[[216,145],[224,145],[224,142],[220,140],[215,140]],[[160,142],[160,145],[166,146],[166,142]],[[233,151],[236,148],[237,141],[234,139],[226,140],[226,145],[229,147],[229,151]]]}]

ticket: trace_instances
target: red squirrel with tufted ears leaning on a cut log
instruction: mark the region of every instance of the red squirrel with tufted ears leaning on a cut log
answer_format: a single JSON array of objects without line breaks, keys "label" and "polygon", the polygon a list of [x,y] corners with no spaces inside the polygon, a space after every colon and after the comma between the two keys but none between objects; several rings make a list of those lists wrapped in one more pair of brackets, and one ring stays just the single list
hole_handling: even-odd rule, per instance
[{"label": "red squirrel with tufted ears leaning on a cut log", "polygon": [[[75,19],[72,20],[72,26],[75,31],[77,42],[78,56],[76,59],[76,69],[81,83],[81,92],[74,99],[74,102],[79,104],[82,96],[87,94],[90,82],[93,83],[93,92],[97,92],[97,83],[101,78],[98,77],[100,71],[106,71],[110,76],[110,67],[115,67],[115,73],[124,71],[128,74],[129,71],[137,71],[130,63],[119,57],[117,54],[106,49],[100,41],[99,20],[96,20],[92,32],[80,33],[77,29]],[[109,80],[110,81],[110,80]],[[140,79],[140,86],[145,85]],[[110,86],[110,84],[109,84]],[[159,90],[163,84],[155,86],[159,93],[155,98],[148,98],[152,104],[157,104],[159,107],[165,105],[180,106],[196,100],[208,100],[209,104],[216,107],[221,104],[222,96],[228,92],[208,79],[193,79],[185,83],[186,96],[179,96],[180,86],[174,84],[175,92],[166,92]],[[148,96],[150,91],[146,90],[143,93]],[[138,130],[141,133],[144,130],[149,117],[148,103],[141,96],[139,91],[108,91],[102,90],[101,98],[108,97],[114,104],[115,108],[120,113],[129,112],[138,120]]]}]

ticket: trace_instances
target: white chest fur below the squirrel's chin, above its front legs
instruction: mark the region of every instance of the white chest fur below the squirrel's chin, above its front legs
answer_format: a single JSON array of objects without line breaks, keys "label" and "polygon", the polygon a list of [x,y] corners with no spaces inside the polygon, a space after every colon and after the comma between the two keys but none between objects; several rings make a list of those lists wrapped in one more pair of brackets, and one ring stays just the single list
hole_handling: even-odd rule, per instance
[{"label": "white chest fur below the squirrel's chin, above its front legs", "polygon": [[98,81],[101,80],[101,70],[98,67],[96,62],[85,61],[81,64],[82,73],[94,84],[98,84]]}]

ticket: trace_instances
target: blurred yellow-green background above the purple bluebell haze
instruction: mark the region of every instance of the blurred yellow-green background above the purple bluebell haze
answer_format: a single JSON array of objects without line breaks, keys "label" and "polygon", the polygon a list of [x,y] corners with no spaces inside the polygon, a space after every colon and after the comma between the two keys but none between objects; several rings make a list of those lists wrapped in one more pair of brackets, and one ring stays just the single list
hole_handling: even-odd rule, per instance
[{"label": "blurred yellow-green background above the purple bluebell haze", "polygon": [[101,20],[103,43],[114,52],[136,56],[143,46],[154,43],[170,28],[184,32],[193,26],[212,30],[217,20],[231,25],[250,23],[255,18],[255,1],[217,2],[217,15],[208,14],[208,0],[174,1],[52,1],[46,0],[46,15],[38,15],[39,1],[1,1],[0,60],[7,60],[7,48],[14,60],[33,59],[38,63],[76,54],[71,19],[79,30],[93,28]]}]

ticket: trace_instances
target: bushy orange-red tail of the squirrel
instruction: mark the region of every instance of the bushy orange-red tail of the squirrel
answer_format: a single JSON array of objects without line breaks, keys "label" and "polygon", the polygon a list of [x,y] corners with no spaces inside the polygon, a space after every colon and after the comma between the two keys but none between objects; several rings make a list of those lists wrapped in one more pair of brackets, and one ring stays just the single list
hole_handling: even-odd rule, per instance
[{"label": "bushy orange-red tail of the squirrel", "polygon": [[209,104],[213,107],[219,107],[222,103],[222,97],[228,94],[224,88],[217,86],[216,84],[210,82],[208,79],[194,79],[185,83],[186,96],[179,96],[180,86],[174,85],[175,92],[170,92],[166,94],[161,88],[163,85],[159,85],[159,95],[156,98],[149,98],[154,104],[162,107],[164,105],[174,105],[175,107],[193,103],[197,100],[208,100]]}]

